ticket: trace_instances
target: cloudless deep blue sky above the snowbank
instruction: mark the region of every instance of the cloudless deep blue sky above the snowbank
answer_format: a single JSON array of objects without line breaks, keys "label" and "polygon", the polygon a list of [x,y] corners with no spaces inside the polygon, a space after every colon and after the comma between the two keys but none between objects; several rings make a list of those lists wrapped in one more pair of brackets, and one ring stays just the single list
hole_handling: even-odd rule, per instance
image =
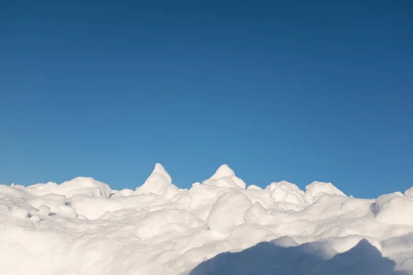
[{"label": "cloudless deep blue sky above the snowbank", "polygon": [[0,184],[413,186],[413,1],[1,1]]}]

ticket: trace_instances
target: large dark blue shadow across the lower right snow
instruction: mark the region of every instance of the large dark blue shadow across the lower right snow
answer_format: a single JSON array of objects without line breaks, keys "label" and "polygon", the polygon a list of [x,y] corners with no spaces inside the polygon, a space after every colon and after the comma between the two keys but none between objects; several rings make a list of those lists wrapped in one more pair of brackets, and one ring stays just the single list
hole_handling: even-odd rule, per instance
[{"label": "large dark blue shadow across the lower right snow", "polygon": [[277,241],[258,243],[241,252],[225,252],[200,263],[189,275],[412,275],[394,271],[394,261],[384,258],[368,241],[335,256],[322,243],[285,247]]}]

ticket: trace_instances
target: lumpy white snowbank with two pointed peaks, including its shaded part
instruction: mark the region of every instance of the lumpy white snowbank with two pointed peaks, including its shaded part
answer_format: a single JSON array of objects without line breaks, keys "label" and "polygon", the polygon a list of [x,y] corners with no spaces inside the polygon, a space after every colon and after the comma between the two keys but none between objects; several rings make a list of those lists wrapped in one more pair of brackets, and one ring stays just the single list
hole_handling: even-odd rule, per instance
[{"label": "lumpy white snowbank with two pointed peaks, including its shaded part", "polygon": [[136,190],[0,185],[0,274],[413,274],[413,187],[260,188],[222,165],[181,189],[161,164]]}]

